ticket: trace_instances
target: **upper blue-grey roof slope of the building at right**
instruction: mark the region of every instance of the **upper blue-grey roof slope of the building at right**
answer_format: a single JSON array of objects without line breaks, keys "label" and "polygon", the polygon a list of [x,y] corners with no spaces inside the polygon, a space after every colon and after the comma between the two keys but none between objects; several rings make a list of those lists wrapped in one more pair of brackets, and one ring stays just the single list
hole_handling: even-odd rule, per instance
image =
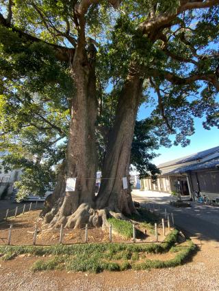
[{"label": "upper blue-grey roof slope of the building at right", "polygon": [[208,150],[203,150],[202,152],[196,152],[196,154],[190,154],[189,156],[183,156],[183,158],[177,158],[175,160],[162,163],[158,165],[157,167],[161,169],[164,167],[170,167],[170,166],[179,165],[182,163],[198,161],[198,160],[201,160],[202,158],[205,158],[205,156],[208,156],[209,154],[214,154],[216,152],[218,152],[218,155],[219,155],[219,146],[216,146],[215,148],[210,148]]}]

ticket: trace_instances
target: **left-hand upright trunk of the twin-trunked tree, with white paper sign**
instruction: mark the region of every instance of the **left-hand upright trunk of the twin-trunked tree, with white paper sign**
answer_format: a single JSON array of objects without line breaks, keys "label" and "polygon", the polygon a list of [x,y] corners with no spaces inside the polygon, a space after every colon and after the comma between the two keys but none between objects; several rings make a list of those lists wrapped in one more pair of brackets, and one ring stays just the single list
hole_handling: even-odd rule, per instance
[{"label": "left-hand upright trunk of the twin-trunked tree, with white paper sign", "polygon": [[[53,207],[44,218],[51,227],[60,224],[80,227],[82,216],[73,217],[77,208],[80,206],[81,212],[86,212],[94,207],[97,170],[94,126],[98,109],[95,58],[94,45],[88,45],[85,51],[84,44],[79,42],[70,65],[76,92],[72,99],[66,162],[51,197]],[[77,178],[74,192],[65,191],[67,178]]]}]

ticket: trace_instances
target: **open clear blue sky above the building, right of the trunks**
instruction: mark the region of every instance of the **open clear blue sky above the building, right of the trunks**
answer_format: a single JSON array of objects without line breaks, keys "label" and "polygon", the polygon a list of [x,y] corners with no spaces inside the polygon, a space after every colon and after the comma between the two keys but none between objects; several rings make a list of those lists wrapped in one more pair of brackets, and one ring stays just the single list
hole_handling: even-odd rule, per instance
[{"label": "open clear blue sky above the building, right of the trunks", "polygon": [[[149,116],[150,108],[146,108],[142,105],[138,112],[138,119],[142,120]],[[203,119],[204,120],[204,119]],[[214,148],[219,146],[219,130],[214,127],[211,130],[206,130],[203,128],[202,119],[195,118],[194,126],[196,132],[190,137],[190,145],[182,148],[181,146],[172,146],[171,148],[160,147],[159,150],[155,152],[160,154],[157,158],[153,159],[155,165],[164,163],[166,161],[174,160],[175,158],[180,158],[181,156],[187,156],[188,154],[194,154],[196,152],[201,152],[202,150],[207,150],[208,148]]]}]

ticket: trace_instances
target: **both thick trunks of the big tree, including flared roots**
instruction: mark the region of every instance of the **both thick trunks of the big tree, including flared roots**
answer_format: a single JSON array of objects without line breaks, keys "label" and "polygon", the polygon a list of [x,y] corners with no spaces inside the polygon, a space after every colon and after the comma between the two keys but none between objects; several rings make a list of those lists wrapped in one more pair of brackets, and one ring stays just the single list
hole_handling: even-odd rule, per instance
[{"label": "both thick trunks of the big tree, including flared roots", "polygon": [[[71,64],[75,84],[66,161],[57,186],[47,200],[44,222],[50,227],[107,225],[107,216],[123,217],[135,212],[129,189],[123,189],[122,177],[129,176],[129,159],[136,114],[142,94],[142,79],[129,73],[120,93],[116,120],[109,136],[103,164],[101,187],[95,196],[97,154],[95,122],[98,112],[95,77],[96,49],[76,48]],[[66,192],[66,179],[77,178],[75,191]]]}]

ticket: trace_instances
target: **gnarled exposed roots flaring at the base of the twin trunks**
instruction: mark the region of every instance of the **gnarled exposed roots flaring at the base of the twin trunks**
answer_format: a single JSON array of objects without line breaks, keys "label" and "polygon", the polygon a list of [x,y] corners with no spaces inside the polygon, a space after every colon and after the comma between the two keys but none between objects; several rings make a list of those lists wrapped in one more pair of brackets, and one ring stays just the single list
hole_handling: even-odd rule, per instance
[{"label": "gnarled exposed roots flaring at the base of the twin trunks", "polygon": [[138,214],[131,193],[126,191],[120,191],[120,195],[112,193],[110,199],[102,205],[99,205],[97,200],[96,203],[92,201],[80,204],[76,191],[74,195],[63,192],[55,203],[52,199],[46,201],[45,208],[42,213],[45,213],[44,223],[48,229],[59,228],[61,225],[69,229],[79,229],[86,224],[90,227],[107,227],[109,225],[107,218],[127,220],[125,214]]}]

